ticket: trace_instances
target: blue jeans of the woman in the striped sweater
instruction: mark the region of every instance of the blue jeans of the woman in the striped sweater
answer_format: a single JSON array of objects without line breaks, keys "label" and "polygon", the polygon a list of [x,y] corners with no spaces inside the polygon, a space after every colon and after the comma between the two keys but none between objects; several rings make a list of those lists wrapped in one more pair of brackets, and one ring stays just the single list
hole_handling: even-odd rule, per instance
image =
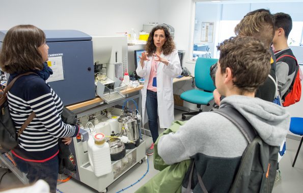
[{"label": "blue jeans of the woman in the striped sweater", "polygon": [[57,191],[57,180],[59,172],[59,159],[58,156],[46,162],[30,162],[24,161],[13,155],[19,170],[26,174],[30,183],[34,183],[39,179],[45,180],[49,187],[50,192]]}]

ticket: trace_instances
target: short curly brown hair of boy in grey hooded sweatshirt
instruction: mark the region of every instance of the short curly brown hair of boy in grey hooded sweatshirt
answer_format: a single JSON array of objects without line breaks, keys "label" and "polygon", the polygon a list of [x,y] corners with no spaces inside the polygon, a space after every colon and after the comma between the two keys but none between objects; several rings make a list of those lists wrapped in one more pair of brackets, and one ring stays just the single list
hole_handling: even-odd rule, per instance
[{"label": "short curly brown hair of boy in grey hooded sweatshirt", "polygon": [[229,67],[233,84],[240,90],[254,92],[265,82],[271,54],[263,42],[249,36],[231,37],[219,44],[217,50],[220,51],[221,74]]}]

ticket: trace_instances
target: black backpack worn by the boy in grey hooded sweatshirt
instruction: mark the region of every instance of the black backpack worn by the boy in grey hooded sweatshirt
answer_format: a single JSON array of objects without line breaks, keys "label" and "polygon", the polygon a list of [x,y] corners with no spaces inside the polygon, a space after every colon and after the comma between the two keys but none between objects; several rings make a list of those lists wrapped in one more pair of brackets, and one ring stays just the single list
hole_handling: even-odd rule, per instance
[{"label": "black backpack worn by the boy in grey hooded sweatshirt", "polygon": [[[249,142],[229,192],[271,192],[278,170],[280,147],[265,143],[252,125],[233,107],[224,107],[212,112],[221,114],[233,122]],[[194,165],[192,164],[187,190],[190,190]],[[203,192],[208,192],[199,174],[198,180]]]}]

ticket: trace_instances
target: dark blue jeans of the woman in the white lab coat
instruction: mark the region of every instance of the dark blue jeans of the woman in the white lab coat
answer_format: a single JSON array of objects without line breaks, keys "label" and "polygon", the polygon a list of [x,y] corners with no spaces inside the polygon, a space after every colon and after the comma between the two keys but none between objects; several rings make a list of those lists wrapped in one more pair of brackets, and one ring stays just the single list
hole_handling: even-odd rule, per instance
[{"label": "dark blue jeans of the woman in the white lab coat", "polygon": [[157,92],[147,90],[146,93],[146,111],[148,115],[148,126],[155,143],[158,136],[158,101]]}]

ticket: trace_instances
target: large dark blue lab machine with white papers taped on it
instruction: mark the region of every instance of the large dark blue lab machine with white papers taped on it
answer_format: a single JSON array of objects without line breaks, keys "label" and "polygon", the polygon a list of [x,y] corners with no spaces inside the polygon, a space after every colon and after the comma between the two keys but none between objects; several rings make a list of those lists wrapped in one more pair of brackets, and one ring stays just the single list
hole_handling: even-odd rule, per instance
[{"label": "large dark blue lab machine with white papers taped on it", "polygon": [[[0,31],[0,49],[7,31]],[[49,46],[47,80],[64,105],[95,98],[92,37],[76,30],[44,30]]]}]

